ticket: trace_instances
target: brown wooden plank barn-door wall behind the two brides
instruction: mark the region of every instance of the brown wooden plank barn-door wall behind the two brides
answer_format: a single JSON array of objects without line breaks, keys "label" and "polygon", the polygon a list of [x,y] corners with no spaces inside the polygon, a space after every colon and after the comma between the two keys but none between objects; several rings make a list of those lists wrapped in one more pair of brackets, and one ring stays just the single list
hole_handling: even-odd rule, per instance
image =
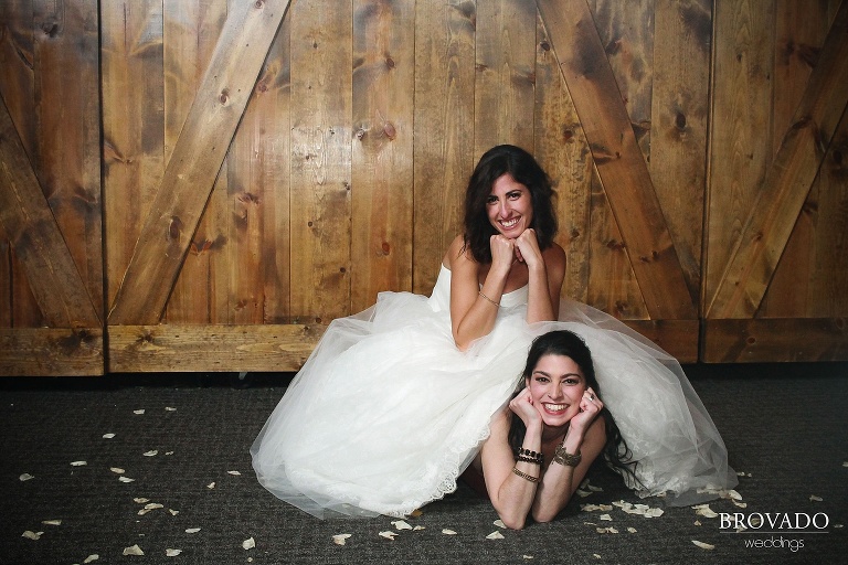
[{"label": "brown wooden plank barn-door wall behind the two brides", "polygon": [[[474,163],[499,142],[555,183],[563,296],[683,361],[848,359],[848,126],[838,88],[809,86],[823,50],[841,53],[826,45],[840,13],[838,0],[2,2],[0,96],[99,324],[50,321],[0,225],[0,343],[17,351],[0,374],[295,370],[331,319],[381,290],[430,291]],[[240,42],[236,18],[269,22],[273,41]],[[215,54],[236,46],[243,64],[216,85],[210,64],[223,72]],[[764,184],[805,95],[837,116],[804,161],[820,168],[755,311],[713,309],[757,199],[774,201]],[[204,100],[244,107],[199,113]],[[200,170],[171,162],[187,148]],[[202,182],[180,189],[181,170]],[[131,268],[160,245],[159,267]],[[656,299],[669,292],[681,307]]]}]

